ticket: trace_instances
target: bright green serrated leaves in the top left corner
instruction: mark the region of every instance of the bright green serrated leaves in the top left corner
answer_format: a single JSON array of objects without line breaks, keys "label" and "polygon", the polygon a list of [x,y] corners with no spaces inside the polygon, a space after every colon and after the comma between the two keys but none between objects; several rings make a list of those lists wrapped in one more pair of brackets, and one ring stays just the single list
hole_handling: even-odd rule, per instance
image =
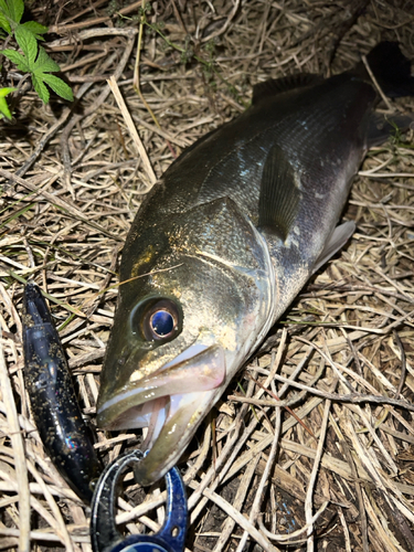
[{"label": "bright green serrated leaves in the top left corner", "polygon": [[[72,102],[71,87],[62,78],[51,74],[60,71],[60,66],[39,45],[39,41],[43,41],[42,34],[47,32],[47,28],[35,21],[21,23],[23,12],[23,0],[0,0],[0,30],[4,31],[9,39],[13,38],[22,52],[6,49],[2,50],[2,54],[14,63],[19,71],[30,75],[33,87],[44,104],[47,104],[50,98],[46,84],[59,96]],[[0,113],[8,118],[11,118],[11,114],[4,97],[10,92],[13,89],[0,88]]]}]

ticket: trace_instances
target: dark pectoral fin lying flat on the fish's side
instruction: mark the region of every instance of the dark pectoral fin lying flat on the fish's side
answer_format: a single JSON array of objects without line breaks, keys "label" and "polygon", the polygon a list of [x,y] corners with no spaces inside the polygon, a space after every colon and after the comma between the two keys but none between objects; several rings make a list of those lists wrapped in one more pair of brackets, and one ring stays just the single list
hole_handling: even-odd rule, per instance
[{"label": "dark pectoral fin lying flat on the fish's side", "polygon": [[258,225],[286,240],[295,221],[300,192],[295,170],[286,153],[275,144],[263,169],[258,199]]}]

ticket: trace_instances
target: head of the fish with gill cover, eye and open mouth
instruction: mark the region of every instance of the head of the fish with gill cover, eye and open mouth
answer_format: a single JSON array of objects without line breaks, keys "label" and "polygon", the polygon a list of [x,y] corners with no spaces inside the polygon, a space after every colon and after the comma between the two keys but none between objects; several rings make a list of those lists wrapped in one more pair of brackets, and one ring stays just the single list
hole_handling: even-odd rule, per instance
[{"label": "head of the fish with gill cover, eye and open mouth", "polygon": [[265,241],[229,199],[141,230],[124,269],[97,404],[110,429],[149,427],[142,485],[178,460],[273,321]]}]

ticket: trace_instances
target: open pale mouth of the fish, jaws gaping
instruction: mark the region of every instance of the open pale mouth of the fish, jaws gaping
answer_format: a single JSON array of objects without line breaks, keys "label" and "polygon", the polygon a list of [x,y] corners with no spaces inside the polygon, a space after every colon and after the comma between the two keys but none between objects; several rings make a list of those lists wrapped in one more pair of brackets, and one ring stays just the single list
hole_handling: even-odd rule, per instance
[{"label": "open pale mouth of the fish, jaws gaping", "polygon": [[97,411],[107,429],[148,427],[147,456],[137,481],[150,485],[179,459],[201,421],[221,395],[226,363],[222,347],[194,343],[147,378],[131,381]]}]

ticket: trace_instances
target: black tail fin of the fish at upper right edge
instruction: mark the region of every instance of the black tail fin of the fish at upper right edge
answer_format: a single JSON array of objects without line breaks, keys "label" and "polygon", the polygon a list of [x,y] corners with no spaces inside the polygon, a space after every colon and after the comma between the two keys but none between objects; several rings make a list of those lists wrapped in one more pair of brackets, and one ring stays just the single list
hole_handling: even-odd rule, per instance
[{"label": "black tail fin of the fish at upper right edge", "polygon": [[[383,93],[396,98],[414,96],[414,77],[411,76],[411,61],[401,52],[397,42],[380,42],[367,56],[368,64]],[[357,72],[367,70],[362,63]]]}]

